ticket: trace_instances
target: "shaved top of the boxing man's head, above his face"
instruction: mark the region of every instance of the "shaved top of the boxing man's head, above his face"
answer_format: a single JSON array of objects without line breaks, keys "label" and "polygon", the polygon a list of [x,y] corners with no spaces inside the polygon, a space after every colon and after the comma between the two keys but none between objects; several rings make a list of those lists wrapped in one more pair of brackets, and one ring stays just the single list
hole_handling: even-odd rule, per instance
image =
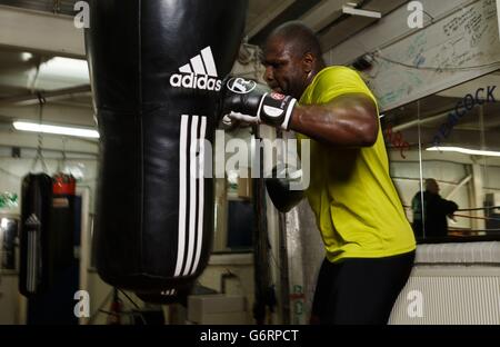
[{"label": "shaved top of the boxing man's head, above his face", "polygon": [[290,21],[274,29],[269,36],[268,42],[276,39],[291,44],[293,52],[300,57],[312,53],[317,59],[321,59],[321,44],[317,36],[300,21]]}]

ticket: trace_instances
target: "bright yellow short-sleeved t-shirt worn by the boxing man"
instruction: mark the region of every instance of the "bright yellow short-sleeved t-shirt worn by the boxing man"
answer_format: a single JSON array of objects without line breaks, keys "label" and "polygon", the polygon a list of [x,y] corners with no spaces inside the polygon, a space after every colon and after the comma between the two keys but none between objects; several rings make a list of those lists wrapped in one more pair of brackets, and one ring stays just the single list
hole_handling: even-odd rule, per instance
[{"label": "bright yellow short-sleeved t-shirt worn by the boxing man", "polygon": [[[321,70],[300,105],[321,105],[346,93],[377,100],[361,77],[346,67]],[[299,139],[307,139],[298,135]],[[413,231],[389,176],[379,123],[369,148],[334,148],[310,142],[310,186],[306,192],[321,231],[327,258],[381,258],[416,249]],[[304,153],[302,152],[302,160]]]}]

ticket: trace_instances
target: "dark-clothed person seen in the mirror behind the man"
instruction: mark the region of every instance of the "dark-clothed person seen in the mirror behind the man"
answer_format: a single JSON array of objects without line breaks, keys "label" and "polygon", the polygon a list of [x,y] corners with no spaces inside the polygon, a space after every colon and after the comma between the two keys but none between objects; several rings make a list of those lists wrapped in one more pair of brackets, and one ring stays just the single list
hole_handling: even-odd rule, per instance
[{"label": "dark-clothed person seen in the mirror behind the man", "polygon": [[411,200],[412,227],[417,238],[448,236],[447,217],[452,218],[459,207],[456,202],[443,199],[439,195],[439,190],[437,180],[428,178],[426,179],[426,191],[417,192]]}]

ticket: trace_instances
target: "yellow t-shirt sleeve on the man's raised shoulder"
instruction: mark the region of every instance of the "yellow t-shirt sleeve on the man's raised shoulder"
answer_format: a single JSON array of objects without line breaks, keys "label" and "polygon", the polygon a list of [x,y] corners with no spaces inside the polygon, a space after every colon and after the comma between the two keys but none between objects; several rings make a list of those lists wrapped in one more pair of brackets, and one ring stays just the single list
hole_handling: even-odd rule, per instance
[{"label": "yellow t-shirt sleeve on the man's raised shoulder", "polygon": [[358,72],[346,67],[336,67],[324,71],[317,80],[311,103],[327,103],[337,97],[348,93],[363,93],[377,105],[377,99]]}]

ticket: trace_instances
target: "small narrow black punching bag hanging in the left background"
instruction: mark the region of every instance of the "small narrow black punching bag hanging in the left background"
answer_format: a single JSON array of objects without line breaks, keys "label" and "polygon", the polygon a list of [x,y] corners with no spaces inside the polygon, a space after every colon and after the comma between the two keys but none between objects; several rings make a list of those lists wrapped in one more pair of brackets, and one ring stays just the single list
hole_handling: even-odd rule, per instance
[{"label": "small narrow black punching bag hanging in the left background", "polygon": [[21,195],[19,291],[33,297],[49,289],[53,272],[52,179],[30,174],[22,180]]}]

